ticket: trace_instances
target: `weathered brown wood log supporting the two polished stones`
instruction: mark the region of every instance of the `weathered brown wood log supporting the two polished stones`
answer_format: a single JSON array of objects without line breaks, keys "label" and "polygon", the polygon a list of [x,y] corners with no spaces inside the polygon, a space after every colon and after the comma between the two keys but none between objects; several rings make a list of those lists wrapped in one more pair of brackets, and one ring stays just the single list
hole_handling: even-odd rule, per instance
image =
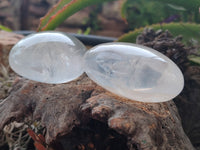
[{"label": "weathered brown wood log supporting the two polished stones", "polygon": [[0,114],[0,129],[26,116],[41,120],[47,143],[93,119],[123,135],[130,150],[193,149],[173,101],[130,101],[105,91],[86,75],[60,85],[20,79],[0,104]]}]

